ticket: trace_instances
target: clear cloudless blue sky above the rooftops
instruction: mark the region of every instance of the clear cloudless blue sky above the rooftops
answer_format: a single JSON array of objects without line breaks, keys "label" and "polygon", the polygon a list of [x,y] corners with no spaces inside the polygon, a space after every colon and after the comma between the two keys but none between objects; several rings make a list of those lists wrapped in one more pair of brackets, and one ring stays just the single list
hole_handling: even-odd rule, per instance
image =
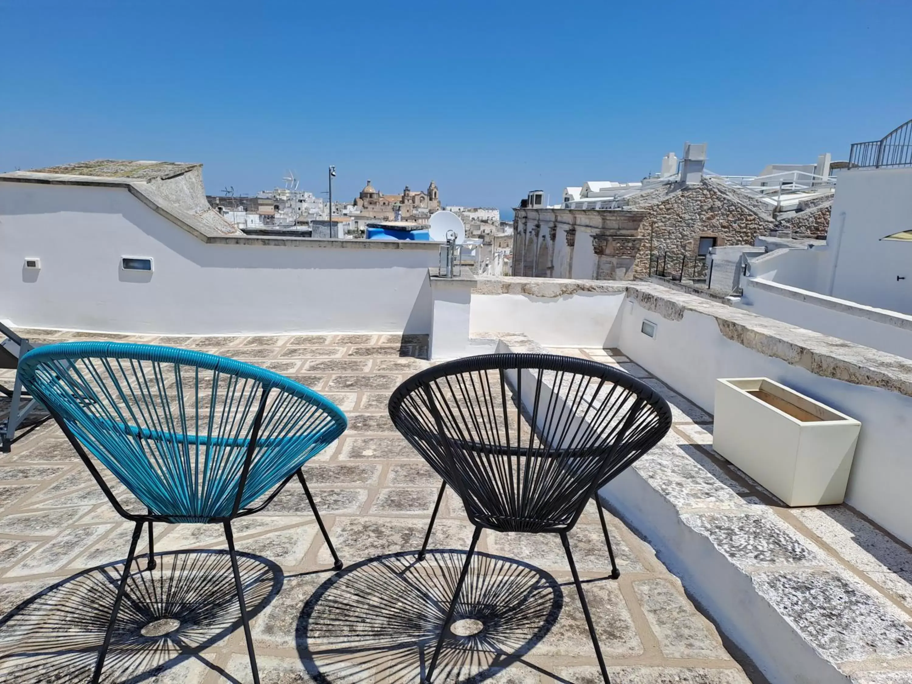
[{"label": "clear cloudless blue sky above the rooftops", "polygon": [[294,169],[444,203],[880,138],[912,118],[912,2],[0,0],[0,171],[201,161],[209,192]]}]

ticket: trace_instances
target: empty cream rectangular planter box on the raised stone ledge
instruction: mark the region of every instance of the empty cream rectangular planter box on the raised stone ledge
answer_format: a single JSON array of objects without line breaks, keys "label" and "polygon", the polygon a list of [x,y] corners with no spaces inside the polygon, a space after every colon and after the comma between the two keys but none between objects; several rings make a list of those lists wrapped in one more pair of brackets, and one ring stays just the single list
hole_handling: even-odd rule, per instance
[{"label": "empty cream rectangular planter box on the raised stone ledge", "polygon": [[716,382],[712,448],[789,506],[843,502],[859,430],[768,378]]}]

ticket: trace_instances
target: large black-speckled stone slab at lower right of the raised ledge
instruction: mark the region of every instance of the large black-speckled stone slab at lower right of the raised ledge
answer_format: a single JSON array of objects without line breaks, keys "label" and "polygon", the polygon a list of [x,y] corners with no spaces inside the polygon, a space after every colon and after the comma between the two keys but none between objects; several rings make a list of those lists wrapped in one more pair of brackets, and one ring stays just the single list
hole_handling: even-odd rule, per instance
[{"label": "large black-speckled stone slab at lower right of the raised ledge", "polygon": [[830,571],[753,575],[763,598],[834,662],[912,656],[908,616],[854,577]]}]

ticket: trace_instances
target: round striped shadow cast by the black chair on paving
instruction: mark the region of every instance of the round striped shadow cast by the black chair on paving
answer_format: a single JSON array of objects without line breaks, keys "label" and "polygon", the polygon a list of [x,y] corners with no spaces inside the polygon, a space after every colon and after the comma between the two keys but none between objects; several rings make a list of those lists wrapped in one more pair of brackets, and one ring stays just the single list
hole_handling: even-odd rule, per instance
[{"label": "round striped shadow cast by the black chair on paving", "polygon": [[[297,623],[308,675],[321,684],[423,679],[464,562],[464,551],[433,550],[420,562],[404,552],[330,577]],[[476,552],[434,679],[494,677],[551,631],[563,606],[561,586],[543,570]]]}]

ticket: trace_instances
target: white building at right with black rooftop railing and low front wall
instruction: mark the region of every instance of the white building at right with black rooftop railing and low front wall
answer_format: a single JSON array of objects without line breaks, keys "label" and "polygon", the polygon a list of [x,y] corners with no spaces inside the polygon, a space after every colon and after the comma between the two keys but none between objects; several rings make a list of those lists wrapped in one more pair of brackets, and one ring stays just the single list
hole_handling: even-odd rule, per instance
[{"label": "white building at right with black rooftop railing and low front wall", "polygon": [[751,258],[737,306],[912,358],[912,144],[892,140],[876,141],[905,147],[891,165],[855,159],[853,146],[825,244],[783,241]]}]

